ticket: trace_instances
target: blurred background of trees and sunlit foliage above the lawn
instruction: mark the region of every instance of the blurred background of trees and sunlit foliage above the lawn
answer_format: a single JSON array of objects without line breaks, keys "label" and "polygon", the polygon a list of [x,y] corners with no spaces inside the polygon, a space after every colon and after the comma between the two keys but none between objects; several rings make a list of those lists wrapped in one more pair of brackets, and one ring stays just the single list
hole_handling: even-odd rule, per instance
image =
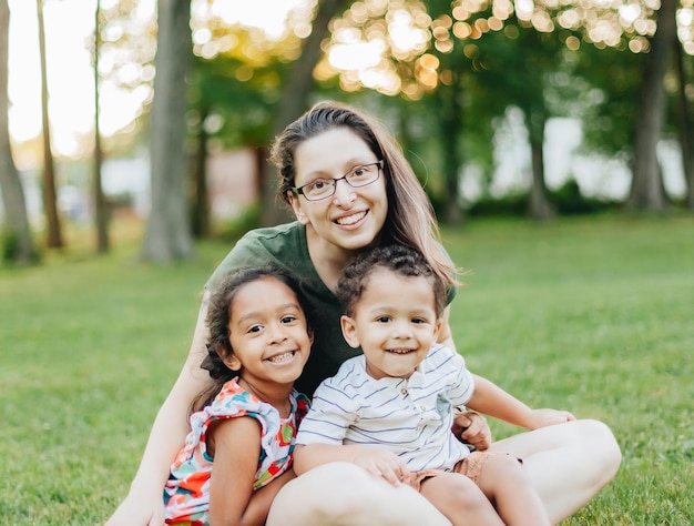
[{"label": "blurred background of trees and sunlit foliage above the lawn", "polygon": [[0,34],[4,261],[287,220],[268,146],[322,99],[385,122],[446,224],[694,209],[693,0],[1,0]]}]

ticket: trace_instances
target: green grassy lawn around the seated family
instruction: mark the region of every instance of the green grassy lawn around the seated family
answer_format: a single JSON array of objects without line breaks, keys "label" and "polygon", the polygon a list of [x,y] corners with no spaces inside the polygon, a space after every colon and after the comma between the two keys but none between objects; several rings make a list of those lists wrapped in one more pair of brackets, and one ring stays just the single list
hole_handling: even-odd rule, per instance
[{"label": "green grassy lawn around the seated family", "polygon": [[[229,247],[155,267],[135,239],[0,269],[6,524],[101,524],[127,490]],[[445,243],[468,271],[451,316],[468,366],[620,442],[616,479],[565,525],[694,524],[694,218],[476,220]]]}]

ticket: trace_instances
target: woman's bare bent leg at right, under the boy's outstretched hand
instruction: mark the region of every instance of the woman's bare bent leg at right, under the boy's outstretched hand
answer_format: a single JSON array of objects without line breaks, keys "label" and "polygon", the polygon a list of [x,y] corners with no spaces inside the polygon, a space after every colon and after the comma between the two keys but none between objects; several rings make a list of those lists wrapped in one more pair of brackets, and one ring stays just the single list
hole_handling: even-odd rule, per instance
[{"label": "woman's bare bent leg at right, under the boy's outstretched hand", "polygon": [[523,459],[523,471],[552,524],[583,507],[616,474],[622,461],[610,428],[582,419],[541,427],[496,442],[490,451]]}]

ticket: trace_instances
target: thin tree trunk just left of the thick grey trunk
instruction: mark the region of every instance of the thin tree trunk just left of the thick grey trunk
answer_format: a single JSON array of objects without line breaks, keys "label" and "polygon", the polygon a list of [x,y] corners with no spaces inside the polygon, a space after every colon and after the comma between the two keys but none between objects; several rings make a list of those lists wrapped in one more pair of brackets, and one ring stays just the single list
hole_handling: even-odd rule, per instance
[{"label": "thin tree trunk just left of the thick grey trunk", "polygon": [[96,252],[99,254],[105,254],[109,252],[109,210],[101,183],[101,165],[103,164],[103,151],[101,148],[101,129],[99,124],[99,51],[101,42],[101,33],[99,27],[100,11],[101,0],[96,0],[96,10],[94,17],[94,173],[92,181],[92,199],[94,201],[94,219],[96,222]]}]

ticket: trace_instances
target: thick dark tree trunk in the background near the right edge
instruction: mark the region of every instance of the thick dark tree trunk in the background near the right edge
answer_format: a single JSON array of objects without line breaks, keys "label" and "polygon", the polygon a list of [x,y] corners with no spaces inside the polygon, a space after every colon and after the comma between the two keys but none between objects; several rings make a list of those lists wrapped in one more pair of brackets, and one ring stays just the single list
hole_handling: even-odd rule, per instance
[{"label": "thick dark tree trunk in the background near the right edge", "polygon": [[676,37],[677,0],[662,0],[657,29],[642,72],[641,102],[636,119],[634,173],[626,206],[633,210],[663,211],[665,194],[657,164],[657,143],[665,115],[665,72]]}]

